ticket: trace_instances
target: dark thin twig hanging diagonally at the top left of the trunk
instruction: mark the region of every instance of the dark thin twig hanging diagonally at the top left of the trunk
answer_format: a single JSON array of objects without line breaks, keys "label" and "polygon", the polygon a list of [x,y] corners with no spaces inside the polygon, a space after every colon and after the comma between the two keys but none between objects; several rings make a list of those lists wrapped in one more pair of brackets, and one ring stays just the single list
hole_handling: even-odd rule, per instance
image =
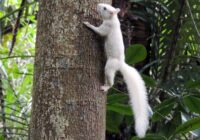
[{"label": "dark thin twig hanging diagonally at the top left of the trunk", "polygon": [[[25,3],[26,3],[26,0],[22,0],[20,7],[24,7]],[[14,45],[15,45],[15,42],[16,42],[18,27],[20,25],[20,19],[21,19],[23,10],[24,10],[24,8],[21,8],[19,10],[19,13],[18,13],[18,16],[17,16],[17,20],[16,20],[14,30],[13,30],[13,38],[12,38],[11,48],[10,48],[10,52],[9,52],[8,56],[10,56],[12,54],[12,51],[13,51],[13,48],[14,48]]]}]

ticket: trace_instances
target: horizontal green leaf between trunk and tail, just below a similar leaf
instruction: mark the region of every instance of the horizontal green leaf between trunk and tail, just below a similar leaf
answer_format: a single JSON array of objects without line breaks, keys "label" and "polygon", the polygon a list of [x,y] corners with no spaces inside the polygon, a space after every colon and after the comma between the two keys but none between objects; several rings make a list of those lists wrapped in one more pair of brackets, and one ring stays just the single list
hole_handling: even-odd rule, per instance
[{"label": "horizontal green leaf between trunk and tail, just below a similar leaf", "polygon": [[108,104],[107,105],[107,110],[119,113],[121,115],[132,116],[132,114],[133,114],[132,110],[131,110],[131,107],[129,105],[119,104],[119,103]]}]

